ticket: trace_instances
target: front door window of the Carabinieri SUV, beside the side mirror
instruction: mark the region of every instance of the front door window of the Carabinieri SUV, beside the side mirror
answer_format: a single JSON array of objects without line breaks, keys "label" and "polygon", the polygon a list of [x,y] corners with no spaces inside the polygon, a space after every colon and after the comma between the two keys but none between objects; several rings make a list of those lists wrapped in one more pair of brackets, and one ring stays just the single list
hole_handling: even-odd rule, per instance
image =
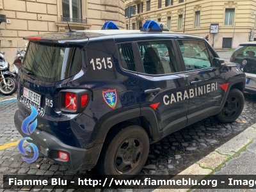
[{"label": "front door window of the Carabinieri SUV, beside the side mirror", "polygon": [[186,70],[211,67],[207,46],[196,40],[178,40]]}]

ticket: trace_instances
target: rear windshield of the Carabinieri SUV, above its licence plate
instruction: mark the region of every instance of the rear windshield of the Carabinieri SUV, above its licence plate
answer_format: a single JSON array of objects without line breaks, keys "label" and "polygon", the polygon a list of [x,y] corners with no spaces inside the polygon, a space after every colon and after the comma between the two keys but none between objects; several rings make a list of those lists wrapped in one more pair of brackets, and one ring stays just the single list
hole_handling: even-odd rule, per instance
[{"label": "rear windshield of the Carabinieri SUV, above its licence plate", "polygon": [[54,82],[76,75],[82,67],[81,50],[78,47],[29,43],[22,71],[33,79]]}]

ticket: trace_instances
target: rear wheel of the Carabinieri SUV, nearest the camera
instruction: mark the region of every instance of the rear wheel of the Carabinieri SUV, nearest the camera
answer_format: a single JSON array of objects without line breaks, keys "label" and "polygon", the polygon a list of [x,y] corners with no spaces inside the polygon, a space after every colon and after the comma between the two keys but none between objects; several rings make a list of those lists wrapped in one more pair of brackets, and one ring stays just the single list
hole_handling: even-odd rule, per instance
[{"label": "rear wheel of the Carabinieri SUV, nearest the camera", "polygon": [[118,129],[102,150],[98,164],[100,174],[131,175],[131,178],[138,175],[147,161],[149,145],[148,134],[142,127],[127,125]]}]

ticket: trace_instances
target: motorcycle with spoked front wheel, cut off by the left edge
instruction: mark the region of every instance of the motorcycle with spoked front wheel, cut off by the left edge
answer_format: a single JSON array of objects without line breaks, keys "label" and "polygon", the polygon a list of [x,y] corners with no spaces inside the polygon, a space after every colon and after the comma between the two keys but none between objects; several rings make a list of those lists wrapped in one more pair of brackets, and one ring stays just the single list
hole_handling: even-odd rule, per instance
[{"label": "motorcycle with spoked front wheel, cut off by the left edge", "polygon": [[0,52],[0,93],[12,95],[17,91],[16,74],[10,72],[10,64],[4,59],[4,52]]}]

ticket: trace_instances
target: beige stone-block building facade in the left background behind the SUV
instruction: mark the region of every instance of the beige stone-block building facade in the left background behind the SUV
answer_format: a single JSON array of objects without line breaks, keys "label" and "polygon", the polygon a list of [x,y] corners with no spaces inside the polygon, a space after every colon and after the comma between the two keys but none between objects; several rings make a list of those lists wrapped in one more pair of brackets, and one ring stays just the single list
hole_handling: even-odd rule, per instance
[{"label": "beige stone-block building facade in the left background behind the SUV", "polygon": [[23,36],[67,31],[67,21],[76,30],[101,29],[107,20],[124,29],[124,8],[124,0],[0,0],[7,20],[0,25],[0,50],[12,63]]}]

